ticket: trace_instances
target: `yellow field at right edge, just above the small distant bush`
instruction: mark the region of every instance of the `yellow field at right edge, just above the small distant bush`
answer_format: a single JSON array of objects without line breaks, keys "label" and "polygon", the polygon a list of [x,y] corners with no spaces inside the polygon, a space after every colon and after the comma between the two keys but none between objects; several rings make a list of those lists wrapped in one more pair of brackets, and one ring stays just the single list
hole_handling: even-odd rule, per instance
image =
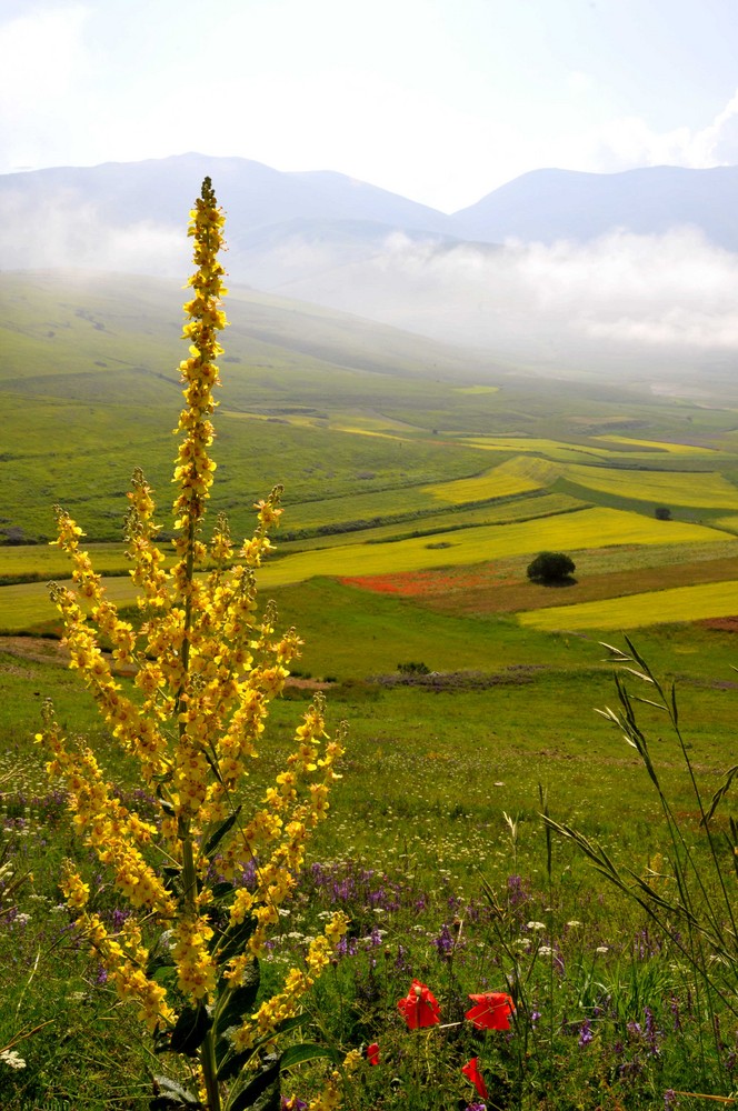
[{"label": "yellow field at right edge, just above the small distant bush", "polygon": [[690,506],[695,509],[738,511],[738,490],[717,471],[696,474],[571,464],[566,469],[566,477],[589,490],[600,490],[621,498],[662,502],[666,506]]}]

